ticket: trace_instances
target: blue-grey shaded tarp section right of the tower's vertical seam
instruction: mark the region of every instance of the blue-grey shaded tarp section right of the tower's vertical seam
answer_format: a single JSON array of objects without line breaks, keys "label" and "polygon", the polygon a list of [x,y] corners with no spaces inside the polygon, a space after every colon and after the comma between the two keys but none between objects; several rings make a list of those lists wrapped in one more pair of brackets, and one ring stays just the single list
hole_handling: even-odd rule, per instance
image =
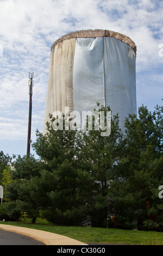
[{"label": "blue-grey shaded tarp section right of the tower's vertical seam", "polygon": [[128,114],[136,114],[135,53],[125,42],[104,39],[105,106],[120,115],[120,127]]}]

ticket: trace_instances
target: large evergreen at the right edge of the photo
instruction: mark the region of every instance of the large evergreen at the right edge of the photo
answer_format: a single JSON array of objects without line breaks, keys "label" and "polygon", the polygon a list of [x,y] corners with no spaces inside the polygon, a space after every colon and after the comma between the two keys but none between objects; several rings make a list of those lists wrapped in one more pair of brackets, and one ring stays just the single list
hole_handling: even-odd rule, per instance
[{"label": "large evergreen at the right edge of the photo", "polygon": [[[118,223],[139,229],[160,228],[163,224],[162,201],[158,188],[162,180],[162,107],[149,112],[139,108],[139,118],[126,119],[123,157],[118,164],[112,188]],[[117,177],[117,178],[116,178]]]}]

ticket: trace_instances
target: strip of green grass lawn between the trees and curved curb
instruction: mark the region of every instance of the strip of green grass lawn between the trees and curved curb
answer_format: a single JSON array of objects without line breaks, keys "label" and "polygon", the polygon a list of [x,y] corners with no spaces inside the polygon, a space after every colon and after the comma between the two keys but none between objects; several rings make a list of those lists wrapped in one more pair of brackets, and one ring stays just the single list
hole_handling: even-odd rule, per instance
[{"label": "strip of green grass lawn between the trees and curved curb", "polygon": [[[38,223],[37,223],[38,222]],[[113,228],[67,227],[47,222],[36,224],[26,222],[2,222],[0,224],[18,225],[20,227],[40,229],[60,235],[65,235],[84,243],[121,243],[128,245],[163,245],[163,232],[138,231]]]}]

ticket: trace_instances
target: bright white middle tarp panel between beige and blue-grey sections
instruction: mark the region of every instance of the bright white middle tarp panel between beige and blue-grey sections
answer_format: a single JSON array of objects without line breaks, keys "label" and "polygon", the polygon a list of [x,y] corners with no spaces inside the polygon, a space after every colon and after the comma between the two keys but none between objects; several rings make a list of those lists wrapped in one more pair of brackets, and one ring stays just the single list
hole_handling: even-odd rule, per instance
[{"label": "bright white middle tarp panel between beige and blue-grey sections", "polygon": [[73,64],[73,109],[93,111],[104,104],[103,38],[77,38]]}]

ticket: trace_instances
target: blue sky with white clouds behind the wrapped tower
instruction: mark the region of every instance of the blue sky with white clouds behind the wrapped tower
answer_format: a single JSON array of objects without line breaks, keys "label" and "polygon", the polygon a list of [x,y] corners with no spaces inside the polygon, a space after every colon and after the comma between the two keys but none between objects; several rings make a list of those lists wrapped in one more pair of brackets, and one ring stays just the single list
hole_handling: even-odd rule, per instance
[{"label": "blue sky with white clouds behind the wrapped tower", "polygon": [[162,17],[162,0],[0,0],[0,151],[27,152],[31,71],[32,141],[36,129],[42,132],[51,46],[70,32],[108,29],[129,36],[137,46],[137,107],[162,105]]}]

